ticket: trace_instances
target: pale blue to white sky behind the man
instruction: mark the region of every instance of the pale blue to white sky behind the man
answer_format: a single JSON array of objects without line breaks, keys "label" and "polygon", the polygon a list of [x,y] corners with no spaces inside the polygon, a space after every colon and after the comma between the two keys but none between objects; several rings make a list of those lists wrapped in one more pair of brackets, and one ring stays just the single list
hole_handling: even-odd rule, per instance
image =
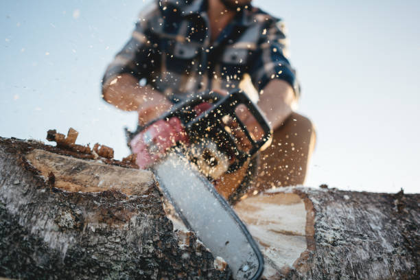
[{"label": "pale blue to white sky behind the man", "polygon": [[[1,1],[0,136],[44,141],[73,127],[77,143],[126,156],[123,127],[137,116],[103,102],[100,80],[146,3]],[[305,185],[419,192],[420,1],[253,4],[288,26],[298,111],[318,134]]]}]

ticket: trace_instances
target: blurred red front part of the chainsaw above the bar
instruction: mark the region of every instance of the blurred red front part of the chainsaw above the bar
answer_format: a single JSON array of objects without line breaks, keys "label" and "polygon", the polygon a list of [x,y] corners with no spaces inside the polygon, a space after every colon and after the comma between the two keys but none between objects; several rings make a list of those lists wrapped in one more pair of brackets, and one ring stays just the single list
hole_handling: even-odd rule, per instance
[{"label": "blurred red front part of the chainsaw above the bar", "polygon": [[188,137],[180,119],[172,117],[168,121],[160,119],[145,128],[130,141],[130,147],[137,155],[137,165],[145,169],[161,159],[167,149],[178,142],[187,143]]}]

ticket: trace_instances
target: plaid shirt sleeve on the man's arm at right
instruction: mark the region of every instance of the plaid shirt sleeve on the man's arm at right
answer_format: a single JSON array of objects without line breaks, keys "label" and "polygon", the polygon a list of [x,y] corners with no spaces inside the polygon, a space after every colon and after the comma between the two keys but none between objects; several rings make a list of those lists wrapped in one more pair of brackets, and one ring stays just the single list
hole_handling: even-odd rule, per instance
[{"label": "plaid shirt sleeve on the man's arm at right", "polygon": [[288,40],[283,21],[278,20],[262,28],[253,65],[250,67],[250,76],[259,92],[270,80],[279,79],[288,82],[296,97],[300,96],[296,71],[288,60]]}]

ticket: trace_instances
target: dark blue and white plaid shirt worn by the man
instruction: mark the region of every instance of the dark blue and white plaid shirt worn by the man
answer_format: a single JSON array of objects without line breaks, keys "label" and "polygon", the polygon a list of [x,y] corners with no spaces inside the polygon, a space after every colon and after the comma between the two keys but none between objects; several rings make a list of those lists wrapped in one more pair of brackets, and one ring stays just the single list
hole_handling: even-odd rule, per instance
[{"label": "dark blue and white plaid shirt worn by the man", "polygon": [[299,96],[281,20],[250,6],[214,42],[209,27],[206,0],[154,1],[139,15],[102,83],[130,73],[177,102],[206,89],[240,87],[257,95],[270,80],[281,79]]}]

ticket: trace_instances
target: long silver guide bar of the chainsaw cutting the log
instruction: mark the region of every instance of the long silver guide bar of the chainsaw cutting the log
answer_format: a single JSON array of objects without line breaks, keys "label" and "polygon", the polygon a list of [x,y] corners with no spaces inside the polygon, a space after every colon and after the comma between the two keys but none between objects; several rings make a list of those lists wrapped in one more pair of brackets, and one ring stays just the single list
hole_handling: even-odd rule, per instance
[{"label": "long silver guide bar of the chainsaw cutting the log", "polygon": [[213,184],[183,154],[171,152],[153,167],[159,187],[185,225],[222,257],[234,279],[259,279],[264,261],[253,237]]}]

